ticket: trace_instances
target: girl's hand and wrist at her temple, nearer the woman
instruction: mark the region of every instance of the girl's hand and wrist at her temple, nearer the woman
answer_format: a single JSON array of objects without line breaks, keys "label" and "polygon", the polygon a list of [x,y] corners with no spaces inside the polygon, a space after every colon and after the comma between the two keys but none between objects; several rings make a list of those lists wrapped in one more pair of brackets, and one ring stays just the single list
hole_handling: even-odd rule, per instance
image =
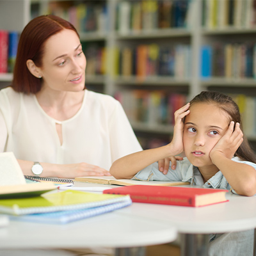
[{"label": "girl's hand and wrist at her temple, nearer the woman", "polygon": [[176,156],[184,151],[183,146],[183,131],[184,131],[184,123],[183,118],[187,116],[190,112],[189,110],[190,103],[186,104],[182,108],[178,109],[174,113],[175,125],[173,128],[173,138],[172,142],[169,144],[171,147],[172,155]]}]

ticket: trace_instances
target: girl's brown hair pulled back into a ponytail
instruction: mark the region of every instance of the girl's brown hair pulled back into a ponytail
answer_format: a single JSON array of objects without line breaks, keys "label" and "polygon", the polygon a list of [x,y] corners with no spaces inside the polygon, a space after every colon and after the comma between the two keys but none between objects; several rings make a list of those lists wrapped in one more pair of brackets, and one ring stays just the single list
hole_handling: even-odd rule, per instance
[{"label": "girl's brown hair pulled back into a ponytail", "polygon": [[[205,91],[196,95],[196,97],[190,101],[190,104],[192,105],[202,102],[216,104],[216,106],[218,106],[220,109],[228,114],[228,122],[234,121],[235,124],[238,122],[240,124],[241,131],[243,131],[239,108],[236,102],[234,102],[231,97],[220,92]],[[235,156],[239,157],[244,161],[256,163],[255,153],[250,147],[246,136],[243,136],[243,142],[241,143],[240,147],[237,148]]]}]

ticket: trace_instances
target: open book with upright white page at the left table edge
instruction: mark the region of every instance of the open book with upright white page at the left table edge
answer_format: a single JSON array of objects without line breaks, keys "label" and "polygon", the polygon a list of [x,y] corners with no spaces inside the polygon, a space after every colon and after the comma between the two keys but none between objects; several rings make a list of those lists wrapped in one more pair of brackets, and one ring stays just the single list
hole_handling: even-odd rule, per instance
[{"label": "open book with upright white page at the left table edge", "polygon": [[0,177],[0,198],[37,196],[56,189],[52,182],[28,184],[13,152],[0,153]]}]

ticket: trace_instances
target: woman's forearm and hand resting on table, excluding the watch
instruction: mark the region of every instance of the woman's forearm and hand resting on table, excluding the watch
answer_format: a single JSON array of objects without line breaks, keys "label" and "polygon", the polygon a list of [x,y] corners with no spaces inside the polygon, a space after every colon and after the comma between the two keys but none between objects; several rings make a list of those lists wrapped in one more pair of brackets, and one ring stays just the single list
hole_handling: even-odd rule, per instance
[{"label": "woman's forearm and hand resting on table, excluding the watch", "polygon": [[[24,175],[34,175],[31,168],[34,164],[33,161],[24,161],[18,159],[20,167]],[[51,164],[40,163],[44,171],[41,177],[58,177],[74,179],[81,176],[109,176],[110,173],[99,166],[87,163],[77,164]]]}]

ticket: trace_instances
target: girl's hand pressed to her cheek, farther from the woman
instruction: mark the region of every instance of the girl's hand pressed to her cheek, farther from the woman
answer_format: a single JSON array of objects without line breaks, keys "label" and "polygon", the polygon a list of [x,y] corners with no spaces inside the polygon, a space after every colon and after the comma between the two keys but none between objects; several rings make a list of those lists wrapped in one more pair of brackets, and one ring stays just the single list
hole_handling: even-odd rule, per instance
[{"label": "girl's hand pressed to her cheek, farther from the woman", "polygon": [[222,154],[228,159],[231,159],[236,153],[237,148],[243,142],[243,132],[240,129],[240,124],[236,123],[234,130],[234,122],[230,122],[227,132],[224,136],[216,143],[210,152],[210,158],[212,163],[215,159],[218,159],[218,155]]}]

